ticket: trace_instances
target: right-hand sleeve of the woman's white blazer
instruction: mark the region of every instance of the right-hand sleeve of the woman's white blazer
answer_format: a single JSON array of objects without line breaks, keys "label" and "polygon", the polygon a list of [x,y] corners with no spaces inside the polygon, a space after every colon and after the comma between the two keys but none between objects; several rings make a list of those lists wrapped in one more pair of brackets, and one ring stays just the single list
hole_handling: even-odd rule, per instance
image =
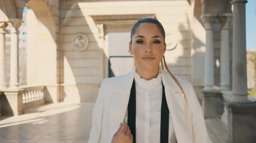
[{"label": "right-hand sleeve of the woman's white blazer", "polygon": [[204,120],[203,110],[195,94],[193,85],[190,83],[191,104],[189,105],[192,110],[192,124],[194,129],[195,143],[212,143],[210,139],[206,123]]}]

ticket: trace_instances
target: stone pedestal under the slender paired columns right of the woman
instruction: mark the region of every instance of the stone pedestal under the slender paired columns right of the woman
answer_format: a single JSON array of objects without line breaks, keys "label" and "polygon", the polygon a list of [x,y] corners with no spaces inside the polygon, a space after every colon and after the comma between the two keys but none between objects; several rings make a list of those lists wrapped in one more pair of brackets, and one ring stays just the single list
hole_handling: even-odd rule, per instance
[{"label": "stone pedestal under the slender paired columns right of the woman", "polygon": [[204,117],[220,117],[224,112],[224,99],[219,90],[203,90]]}]

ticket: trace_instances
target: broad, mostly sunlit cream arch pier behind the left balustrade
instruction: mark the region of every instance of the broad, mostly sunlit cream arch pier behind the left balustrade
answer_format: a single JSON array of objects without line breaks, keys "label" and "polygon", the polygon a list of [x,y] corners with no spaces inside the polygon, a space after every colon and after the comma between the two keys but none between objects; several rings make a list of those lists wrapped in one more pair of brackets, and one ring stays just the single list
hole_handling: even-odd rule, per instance
[{"label": "broad, mostly sunlit cream arch pier behind the left balustrade", "polygon": [[48,1],[29,0],[20,5],[28,7],[27,85],[45,85],[49,93],[45,101],[58,102],[58,20]]}]

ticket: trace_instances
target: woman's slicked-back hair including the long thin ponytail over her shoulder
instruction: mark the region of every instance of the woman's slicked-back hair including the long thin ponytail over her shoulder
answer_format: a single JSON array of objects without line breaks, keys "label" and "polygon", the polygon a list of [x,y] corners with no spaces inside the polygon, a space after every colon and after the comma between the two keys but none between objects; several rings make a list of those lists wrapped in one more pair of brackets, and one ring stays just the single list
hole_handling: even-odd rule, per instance
[{"label": "woman's slicked-back hair including the long thin ponytail over her shoulder", "polygon": [[[165,42],[165,37],[166,37],[166,36],[165,36],[165,31],[164,31],[163,25],[162,25],[157,19],[154,19],[154,18],[151,18],[151,17],[145,17],[145,18],[143,18],[143,19],[140,19],[140,20],[138,20],[138,21],[133,25],[133,27],[131,28],[131,38],[132,38],[132,36],[134,36],[136,29],[140,26],[141,23],[153,23],[153,24],[157,25],[157,27],[158,27],[158,28],[160,29],[160,31],[161,31],[161,34],[162,34],[163,39],[164,39],[164,42]],[[132,42],[132,41],[130,41],[130,42]],[[164,70],[163,64],[164,64],[166,70],[168,71],[168,73],[172,76],[172,78],[175,80],[175,82],[177,83],[177,85],[180,87],[180,90],[181,90],[182,93],[184,94],[186,104],[188,105],[188,102],[187,102],[187,99],[186,99],[186,95],[185,95],[185,93],[184,93],[184,90],[183,90],[183,88],[181,87],[180,82],[175,78],[175,76],[174,76],[174,75],[171,73],[171,71],[169,70],[169,68],[168,68],[168,66],[167,66],[167,64],[166,64],[166,59],[165,59],[164,54],[163,54],[163,59],[162,59],[162,61],[161,61],[161,67],[162,67],[162,69]],[[134,66],[136,66],[135,61],[134,61]]]}]

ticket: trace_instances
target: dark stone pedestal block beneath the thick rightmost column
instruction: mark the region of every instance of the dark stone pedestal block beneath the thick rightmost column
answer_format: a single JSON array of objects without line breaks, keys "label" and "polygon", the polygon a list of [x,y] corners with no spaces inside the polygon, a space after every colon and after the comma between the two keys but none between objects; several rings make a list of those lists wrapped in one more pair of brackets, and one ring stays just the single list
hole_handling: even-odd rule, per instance
[{"label": "dark stone pedestal block beneath the thick rightmost column", "polygon": [[226,143],[256,143],[256,102],[224,104],[228,110]]}]

